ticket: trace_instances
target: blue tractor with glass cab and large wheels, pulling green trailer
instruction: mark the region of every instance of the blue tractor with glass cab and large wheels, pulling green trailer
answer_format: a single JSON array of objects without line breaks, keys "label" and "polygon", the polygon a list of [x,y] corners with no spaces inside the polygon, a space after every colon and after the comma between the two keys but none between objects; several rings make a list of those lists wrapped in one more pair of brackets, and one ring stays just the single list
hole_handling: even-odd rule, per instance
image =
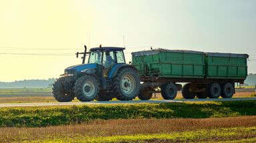
[{"label": "blue tractor with glass cab and large wheels, pulling green trailer", "polygon": [[[126,64],[124,48],[96,47],[84,53],[82,65],[65,69],[53,84],[53,96],[59,102],[70,102],[75,97],[86,102],[132,100],[140,92],[140,77],[137,69]],[[86,55],[89,55],[85,64]]]}]

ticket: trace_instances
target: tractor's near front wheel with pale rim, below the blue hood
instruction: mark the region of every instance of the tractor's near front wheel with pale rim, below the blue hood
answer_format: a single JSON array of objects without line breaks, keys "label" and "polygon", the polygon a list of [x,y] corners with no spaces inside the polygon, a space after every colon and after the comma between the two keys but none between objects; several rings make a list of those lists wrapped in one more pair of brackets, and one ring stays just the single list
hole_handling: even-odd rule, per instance
[{"label": "tractor's near front wheel with pale rim, below the blue hood", "polygon": [[84,75],[78,78],[74,86],[76,98],[84,102],[97,98],[99,89],[98,80],[90,75]]}]

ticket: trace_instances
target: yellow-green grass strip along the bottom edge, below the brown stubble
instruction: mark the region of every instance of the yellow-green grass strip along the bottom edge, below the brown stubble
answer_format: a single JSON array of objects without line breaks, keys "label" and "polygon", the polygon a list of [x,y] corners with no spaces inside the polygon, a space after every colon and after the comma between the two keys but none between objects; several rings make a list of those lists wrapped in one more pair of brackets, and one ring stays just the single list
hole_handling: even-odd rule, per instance
[{"label": "yellow-green grass strip along the bottom edge, below the brown stubble", "polygon": [[[254,135],[253,135],[254,134]],[[173,132],[169,134],[130,134],[117,136],[74,136],[73,138],[55,138],[35,142],[207,142],[213,140],[234,141],[236,138],[244,141],[256,141],[256,127],[249,128],[218,128],[209,130],[194,130]],[[250,138],[251,136],[251,138]],[[248,138],[249,137],[249,138]],[[247,139],[244,139],[247,138]]]}]

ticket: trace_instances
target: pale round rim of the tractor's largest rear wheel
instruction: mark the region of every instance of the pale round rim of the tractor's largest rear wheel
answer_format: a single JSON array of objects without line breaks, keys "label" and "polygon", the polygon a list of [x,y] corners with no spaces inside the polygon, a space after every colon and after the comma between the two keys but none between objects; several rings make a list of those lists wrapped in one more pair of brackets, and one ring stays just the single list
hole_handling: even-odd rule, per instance
[{"label": "pale round rim of the tractor's largest rear wheel", "polygon": [[131,74],[122,77],[121,89],[124,94],[130,94],[135,90],[135,78]]}]

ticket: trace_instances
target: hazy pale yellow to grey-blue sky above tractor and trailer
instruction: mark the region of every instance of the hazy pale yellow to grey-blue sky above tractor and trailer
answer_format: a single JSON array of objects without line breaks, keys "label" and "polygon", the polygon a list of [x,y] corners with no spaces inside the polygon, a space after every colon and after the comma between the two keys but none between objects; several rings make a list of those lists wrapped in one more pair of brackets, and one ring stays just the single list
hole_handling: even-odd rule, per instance
[{"label": "hazy pale yellow to grey-blue sky above tractor and trailer", "polygon": [[0,81],[58,77],[82,63],[72,54],[84,44],[123,47],[123,36],[126,61],[150,45],[247,53],[255,73],[255,7],[254,0],[1,0]]}]

